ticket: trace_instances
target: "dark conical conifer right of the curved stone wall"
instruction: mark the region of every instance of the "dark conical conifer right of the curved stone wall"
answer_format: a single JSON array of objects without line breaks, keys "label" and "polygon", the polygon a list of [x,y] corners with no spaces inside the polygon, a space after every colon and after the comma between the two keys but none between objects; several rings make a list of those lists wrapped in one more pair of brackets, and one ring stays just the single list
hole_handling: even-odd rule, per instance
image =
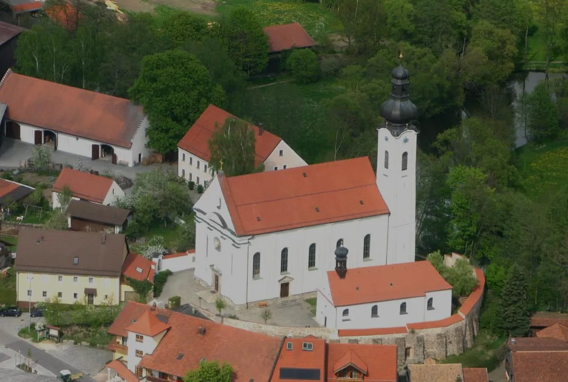
[{"label": "dark conical conifer right of the curved stone wall", "polygon": [[512,337],[524,337],[529,332],[530,313],[527,298],[527,278],[519,265],[513,265],[501,292],[500,329]]}]

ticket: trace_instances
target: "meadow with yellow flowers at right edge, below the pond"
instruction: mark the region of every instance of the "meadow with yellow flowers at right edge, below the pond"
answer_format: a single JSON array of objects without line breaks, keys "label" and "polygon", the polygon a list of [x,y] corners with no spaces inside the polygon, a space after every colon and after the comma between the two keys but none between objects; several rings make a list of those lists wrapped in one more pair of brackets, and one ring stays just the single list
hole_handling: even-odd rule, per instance
[{"label": "meadow with yellow flowers at right edge, below the pond", "polygon": [[517,149],[516,154],[522,186],[528,196],[539,198],[549,189],[568,185],[568,141],[528,143]]}]

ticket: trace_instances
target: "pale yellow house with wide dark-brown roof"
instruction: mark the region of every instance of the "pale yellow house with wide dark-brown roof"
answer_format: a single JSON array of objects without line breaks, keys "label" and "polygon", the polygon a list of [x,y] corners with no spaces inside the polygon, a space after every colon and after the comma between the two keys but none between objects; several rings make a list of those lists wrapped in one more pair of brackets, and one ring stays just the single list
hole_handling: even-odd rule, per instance
[{"label": "pale yellow house with wide dark-brown roof", "polygon": [[20,230],[15,262],[18,306],[55,297],[64,304],[85,299],[88,304],[118,305],[124,299],[122,289],[131,290],[121,285],[126,282],[123,269],[150,279],[153,271],[146,268],[153,268],[152,261],[129,253],[122,234]]}]

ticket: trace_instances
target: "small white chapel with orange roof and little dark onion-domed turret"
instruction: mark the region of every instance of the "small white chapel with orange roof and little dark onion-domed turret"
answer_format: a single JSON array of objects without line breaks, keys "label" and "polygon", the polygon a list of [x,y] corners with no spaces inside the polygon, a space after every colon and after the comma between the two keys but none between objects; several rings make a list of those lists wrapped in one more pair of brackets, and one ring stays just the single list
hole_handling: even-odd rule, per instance
[{"label": "small white chapel with orange roof and little dark onion-domed turret", "polygon": [[322,326],[392,328],[452,315],[452,286],[429,261],[346,267],[344,273],[338,268],[318,288],[316,321]]}]

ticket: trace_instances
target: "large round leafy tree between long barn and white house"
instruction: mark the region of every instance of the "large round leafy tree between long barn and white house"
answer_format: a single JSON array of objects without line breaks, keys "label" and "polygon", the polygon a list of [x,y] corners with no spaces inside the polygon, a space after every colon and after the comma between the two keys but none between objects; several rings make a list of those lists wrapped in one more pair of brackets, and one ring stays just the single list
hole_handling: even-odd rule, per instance
[{"label": "large round leafy tree between long barn and white house", "polygon": [[210,104],[223,106],[224,91],[193,54],[169,50],[143,58],[128,93],[148,113],[148,147],[170,154]]}]

